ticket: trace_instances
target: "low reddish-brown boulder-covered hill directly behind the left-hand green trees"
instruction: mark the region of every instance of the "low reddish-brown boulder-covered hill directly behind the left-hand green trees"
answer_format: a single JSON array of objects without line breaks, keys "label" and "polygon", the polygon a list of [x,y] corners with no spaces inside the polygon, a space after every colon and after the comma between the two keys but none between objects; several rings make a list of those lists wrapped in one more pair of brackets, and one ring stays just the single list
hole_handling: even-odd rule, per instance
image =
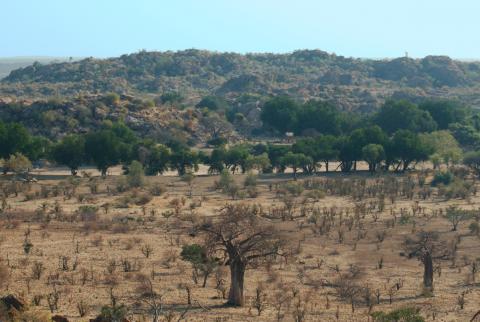
[{"label": "low reddish-brown boulder-covered hill directly behind the left-hand green trees", "polygon": [[249,115],[249,110],[245,110],[249,107],[255,111],[255,106],[251,105],[245,104],[242,110],[247,118],[252,118],[246,126],[234,121],[229,123],[223,114],[170,103],[155,103],[128,95],[84,95],[49,100],[0,99],[0,120],[22,123],[31,134],[51,140],[72,133],[88,133],[104,124],[121,122],[140,137],[162,143],[177,141],[195,145],[210,140],[214,131],[235,142],[239,135],[234,126],[246,131],[259,119],[257,114],[250,112]]}]

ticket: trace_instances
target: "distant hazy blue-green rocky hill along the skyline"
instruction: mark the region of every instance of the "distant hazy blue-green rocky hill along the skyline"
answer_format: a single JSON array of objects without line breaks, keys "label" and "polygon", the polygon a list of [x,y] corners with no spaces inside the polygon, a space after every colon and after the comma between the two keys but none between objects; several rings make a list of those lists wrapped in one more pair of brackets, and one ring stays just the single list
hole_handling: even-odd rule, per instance
[{"label": "distant hazy blue-green rocky hill along the skyline", "polygon": [[367,60],[320,50],[247,55],[142,51],[110,59],[35,63],[4,78],[0,96],[116,92],[154,97],[178,92],[194,103],[212,94],[230,100],[244,94],[290,95],[328,100],[348,111],[372,111],[391,96],[445,97],[480,106],[479,81],[480,63],[446,56]]}]

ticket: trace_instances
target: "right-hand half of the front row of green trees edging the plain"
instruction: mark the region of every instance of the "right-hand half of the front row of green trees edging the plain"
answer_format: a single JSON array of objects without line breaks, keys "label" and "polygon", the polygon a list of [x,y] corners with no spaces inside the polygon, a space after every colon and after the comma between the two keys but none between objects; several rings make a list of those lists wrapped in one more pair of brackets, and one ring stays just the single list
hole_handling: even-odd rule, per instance
[{"label": "right-hand half of the front row of green trees edging the plain", "polygon": [[369,126],[353,131],[350,135],[318,135],[297,140],[288,145],[237,145],[213,150],[206,163],[210,172],[229,169],[235,173],[257,169],[263,172],[284,172],[293,169],[312,174],[323,165],[330,171],[331,162],[339,162],[343,172],[357,169],[358,161],[366,161],[369,170],[375,172],[380,166],[388,170],[404,171],[412,163],[429,158],[435,166],[441,163],[459,162],[462,150],[448,131],[417,134],[399,130],[389,136],[379,126]]}]

